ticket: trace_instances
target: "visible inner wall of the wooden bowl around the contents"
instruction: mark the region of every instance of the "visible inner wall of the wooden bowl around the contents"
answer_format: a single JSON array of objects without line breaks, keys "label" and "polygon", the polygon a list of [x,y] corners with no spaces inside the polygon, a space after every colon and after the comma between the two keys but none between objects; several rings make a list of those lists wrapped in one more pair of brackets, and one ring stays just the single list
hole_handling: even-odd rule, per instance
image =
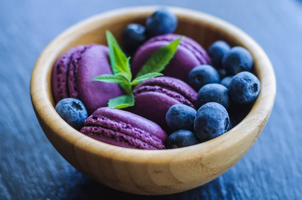
[{"label": "visible inner wall of the wooden bowl around the contents", "polygon": [[[126,26],[130,23],[138,23],[145,25],[145,19],[151,13],[140,13],[133,15],[125,15],[122,17],[112,17],[108,18],[106,21],[96,18],[91,20],[89,23],[78,24],[75,27],[69,29],[69,33],[66,33],[66,43],[61,45],[58,50],[59,53],[56,55],[57,58],[59,55],[67,51],[69,48],[80,45],[80,44],[103,44],[107,45],[106,41],[106,30],[109,30],[113,33],[117,39],[120,46],[122,46],[122,32]],[[203,21],[202,19],[192,19],[191,17],[185,15],[178,15],[178,26],[175,30],[176,34],[184,35],[194,39],[198,42],[204,49],[208,47],[217,40],[223,40],[229,43],[231,46],[244,46],[243,41],[238,40],[236,36],[229,33],[226,29],[216,26],[209,21]],[[245,46],[244,46],[245,47]],[[248,47],[246,47],[248,49]],[[55,62],[55,59],[52,61],[52,64]],[[254,62],[254,69],[257,69],[257,61]],[[253,69],[253,70],[254,70]],[[51,70],[49,68],[48,73],[48,85],[51,85]],[[257,70],[254,70],[253,73],[257,75]],[[53,106],[55,106],[51,89],[49,89],[49,97]],[[236,126],[241,122],[251,111],[253,104],[244,107],[230,108],[228,112],[236,113],[236,119],[233,119],[233,126]],[[240,112],[239,112],[240,111]]]}]

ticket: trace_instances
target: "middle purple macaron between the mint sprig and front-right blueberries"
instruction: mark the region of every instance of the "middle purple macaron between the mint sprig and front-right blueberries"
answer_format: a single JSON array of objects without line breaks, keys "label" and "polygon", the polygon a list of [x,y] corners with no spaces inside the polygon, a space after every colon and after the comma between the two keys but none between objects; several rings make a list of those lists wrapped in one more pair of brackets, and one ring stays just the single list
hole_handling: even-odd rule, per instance
[{"label": "middle purple macaron between the mint sprig and front-right blueberries", "polygon": [[133,90],[135,104],[125,110],[160,125],[168,134],[166,114],[171,106],[184,104],[197,109],[197,92],[184,81],[159,76],[147,79]]}]

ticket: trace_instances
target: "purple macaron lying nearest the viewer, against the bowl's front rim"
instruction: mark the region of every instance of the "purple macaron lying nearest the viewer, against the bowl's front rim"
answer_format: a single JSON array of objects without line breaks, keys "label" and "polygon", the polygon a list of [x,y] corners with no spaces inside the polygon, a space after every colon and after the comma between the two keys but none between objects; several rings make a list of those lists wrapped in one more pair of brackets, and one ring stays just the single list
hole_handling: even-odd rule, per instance
[{"label": "purple macaron lying nearest the viewer, against the bowl's front rim", "polygon": [[168,135],[157,124],[127,111],[99,108],[84,122],[81,133],[115,146],[165,149]]}]

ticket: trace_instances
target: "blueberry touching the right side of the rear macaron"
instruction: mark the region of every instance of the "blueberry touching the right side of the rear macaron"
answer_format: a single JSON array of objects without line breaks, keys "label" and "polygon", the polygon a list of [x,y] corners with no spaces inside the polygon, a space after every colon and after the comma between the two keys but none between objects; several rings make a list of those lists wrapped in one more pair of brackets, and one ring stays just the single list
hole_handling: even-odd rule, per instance
[{"label": "blueberry touching the right side of the rear macaron", "polygon": [[198,65],[189,72],[188,82],[198,91],[205,84],[218,83],[219,74],[211,65]]}]

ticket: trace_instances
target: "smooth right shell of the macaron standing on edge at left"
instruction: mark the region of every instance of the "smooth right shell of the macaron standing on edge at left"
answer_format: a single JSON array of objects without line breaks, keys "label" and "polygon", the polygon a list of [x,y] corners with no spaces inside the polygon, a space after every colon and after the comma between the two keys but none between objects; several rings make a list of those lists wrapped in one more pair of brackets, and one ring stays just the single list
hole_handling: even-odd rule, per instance
[{"label": "smooth right shell of the macaron standing on edge at left", "polygon": [[116,83],[91,80],[102,74],[112,74],[107,46],[93,45],[83,51],[74,74],[74,81],[70,83],[75,84],[73,88],[76,88],[77,93],[73,95],[78,94],[89,115],[98,108],[107,107],[109,99],[124,93]]}]

